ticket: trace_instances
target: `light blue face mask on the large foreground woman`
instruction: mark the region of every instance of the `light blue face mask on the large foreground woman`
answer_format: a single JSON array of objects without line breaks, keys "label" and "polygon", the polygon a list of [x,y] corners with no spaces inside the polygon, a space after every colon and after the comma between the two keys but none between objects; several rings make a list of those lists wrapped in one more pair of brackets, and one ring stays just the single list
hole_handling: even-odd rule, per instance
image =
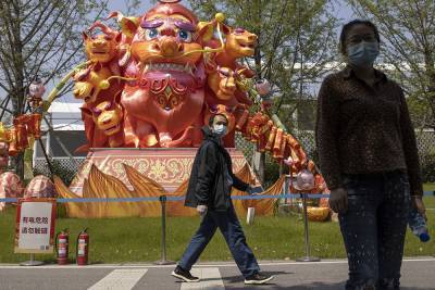
[{"label": "light blue face mask on the large foreground woman", "polygon": [[361,41],[347,48],[349,64],[357,66],[371,66],[380,54],[377,41]]}]

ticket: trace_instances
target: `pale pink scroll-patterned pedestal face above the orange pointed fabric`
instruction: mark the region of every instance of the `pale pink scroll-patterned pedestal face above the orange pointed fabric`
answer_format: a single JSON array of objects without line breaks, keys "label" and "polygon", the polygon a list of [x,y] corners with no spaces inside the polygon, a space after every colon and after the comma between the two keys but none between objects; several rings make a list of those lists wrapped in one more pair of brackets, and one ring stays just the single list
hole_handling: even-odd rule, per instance
[{"label": "pale pink scroll-patterned pedestal face above the orange pointed fabric", "polygon": [[[197,150],[197,148],[91,149],[72,181],[70,190],[83,197],[83,186],[89,177],[92,165],[133,190],[124,167],[124,165],[128,165],[161,185],[166,192],[174,192],[189,178]],[[236,149],[227,149],[227,151],[233,160],[233,171],[239,172],[247,164],[243,152]]]}]

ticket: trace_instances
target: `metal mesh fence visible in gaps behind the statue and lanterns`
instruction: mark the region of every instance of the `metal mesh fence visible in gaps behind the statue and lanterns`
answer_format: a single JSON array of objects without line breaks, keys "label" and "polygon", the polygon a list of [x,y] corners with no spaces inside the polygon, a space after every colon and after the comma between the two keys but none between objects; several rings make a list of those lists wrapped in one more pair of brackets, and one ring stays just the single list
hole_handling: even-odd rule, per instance
[{"label": "metal mesh fence visible in gaps behind the statue and lanterns", "polygon": [[[307,155],[315,159],[315,141],[314,131],[294,131],[294,136],[302,144],[307,152]],[[426,173],[426,180],[435,180],[435,131],[434,130],[418,130],[415,131],[419,154],[421,159],[421,164],[423,172]],[[241,150],[246,156],[246,160],[251,163],[252,154],[254,152],[254,144],[245,140],[239,133],[236,134],[236,148]],[[53,157],[52,164],[55,174],[64,177],[66,180],[72,179],[77,173],[79,166],[84,163],[85,157]],[[266,155],[266,166],[275,166],[272,157]],[[50,175],[49,167],[47,166],[47,161],[45,159],[38,157],[35,160],[34,168],[36,173]],[[268,168],[266,168],[268,169]],[[275,166],[276,169],[276,166]]]}]

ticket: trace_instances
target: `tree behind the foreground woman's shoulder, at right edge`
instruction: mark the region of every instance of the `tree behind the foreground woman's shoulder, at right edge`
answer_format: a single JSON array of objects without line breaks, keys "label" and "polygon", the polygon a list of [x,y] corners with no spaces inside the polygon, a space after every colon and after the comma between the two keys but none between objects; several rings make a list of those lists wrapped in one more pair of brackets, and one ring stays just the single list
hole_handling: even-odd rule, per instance
[{"label": "tree behind the foreground woman's shoulder, at right edge", "polygon": [[348,0],[382,35],[383,62],[408,96],[413,123],[435,128],[435,2]]}]

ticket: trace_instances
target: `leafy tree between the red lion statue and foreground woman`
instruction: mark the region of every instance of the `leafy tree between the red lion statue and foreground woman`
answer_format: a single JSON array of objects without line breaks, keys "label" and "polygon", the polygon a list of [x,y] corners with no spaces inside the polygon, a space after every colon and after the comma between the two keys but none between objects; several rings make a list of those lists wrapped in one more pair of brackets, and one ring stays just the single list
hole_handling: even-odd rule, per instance
[{"label": "leafy tree between the red lion statue and foreground woman", "polygon": [[[259,78],[273,85],[277,114],[287,128],[295,128],[293,115],[315,98],[313,84],[328,72],[336,55],[336,27],[327,0],[190,0],[202,20],[223,12],[231,26],[254,33],[258,46],[252,66]],[[313,110],[312,114],[314,117]],[[264,163],[264,155],[262,156]],[[262,173],[259,173],[260,177]]]}]

